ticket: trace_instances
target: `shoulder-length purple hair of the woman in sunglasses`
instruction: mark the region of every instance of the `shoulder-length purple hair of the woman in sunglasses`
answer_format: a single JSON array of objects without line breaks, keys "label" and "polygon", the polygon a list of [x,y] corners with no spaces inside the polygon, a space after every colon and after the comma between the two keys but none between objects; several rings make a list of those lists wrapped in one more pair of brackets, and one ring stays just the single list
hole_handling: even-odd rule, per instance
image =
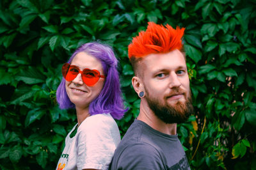
[{"label": "shoulder-length purple hair of the woman in sunglasses", "polygon": [[[124,103],[122,100],[122,91],[120,89],[119,76],[117,71],[118,61],[111,47],[108,45],[93,42],[84,43],[72,54],[68,63],[71,63],[74,56],[79,52],[86,52],[90,56],[99,59],[102,64],[104,75],[107,75],[104,87],[100,94],[89,105],[89,112],[93,114],[102,114],[110,112],[115,119],[121,119],[124,116]],[[60,109],[74,108],[75,105],[68,98],[65,89],[65,79],[62,78],[60,85],[56,92],[57,102]]]}]

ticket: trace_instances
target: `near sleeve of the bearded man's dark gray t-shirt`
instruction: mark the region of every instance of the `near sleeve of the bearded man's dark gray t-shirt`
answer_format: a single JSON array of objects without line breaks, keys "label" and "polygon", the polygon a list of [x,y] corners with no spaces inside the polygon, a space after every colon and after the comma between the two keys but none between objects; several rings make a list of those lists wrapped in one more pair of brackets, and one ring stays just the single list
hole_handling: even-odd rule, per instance
[{"label": "near sleeve of the bearded man's dark gray t-shirt", "polygon": [[127,145],[118,155],[116,167],[112,169],[163,169],[161,157],[153,146],[145,143]]}]

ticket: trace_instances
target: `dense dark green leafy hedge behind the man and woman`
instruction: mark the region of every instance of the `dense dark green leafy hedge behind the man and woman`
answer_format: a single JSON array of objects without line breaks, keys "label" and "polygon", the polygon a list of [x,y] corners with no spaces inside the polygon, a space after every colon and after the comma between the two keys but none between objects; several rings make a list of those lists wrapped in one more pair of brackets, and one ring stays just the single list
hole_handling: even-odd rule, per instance
[{"label": "dense dark green leafy hedge behind the man and woman", "polygon": [[254,0],[1,0],[0,168],[54,169],[74,110],[60,110],[61,65],[82,43],[113,46],[129,111],[138,116],[127,45],[148,21],[186,27],[195,114],[178,125],[191,169],[256,167]]}]

